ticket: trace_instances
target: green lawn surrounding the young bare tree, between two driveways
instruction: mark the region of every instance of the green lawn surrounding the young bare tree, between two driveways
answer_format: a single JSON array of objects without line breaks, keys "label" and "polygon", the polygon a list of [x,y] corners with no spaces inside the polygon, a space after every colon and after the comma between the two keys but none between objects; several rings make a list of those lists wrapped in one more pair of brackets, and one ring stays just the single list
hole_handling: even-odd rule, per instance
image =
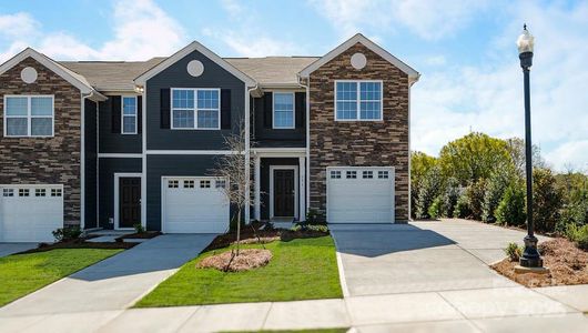
[{"label": "green lawn surrounding the young bare tree, between two driveways", "polygon": [[[275,241],[265,245],[273,259],[264,268],[224,273],[196,269],[207,255],[201,254],[161,283],[135,306],[178,306],[195,304],[294,301],[342,297],[335,245],[331,236]],[[258,249],[261,245],[243,248]]]}]

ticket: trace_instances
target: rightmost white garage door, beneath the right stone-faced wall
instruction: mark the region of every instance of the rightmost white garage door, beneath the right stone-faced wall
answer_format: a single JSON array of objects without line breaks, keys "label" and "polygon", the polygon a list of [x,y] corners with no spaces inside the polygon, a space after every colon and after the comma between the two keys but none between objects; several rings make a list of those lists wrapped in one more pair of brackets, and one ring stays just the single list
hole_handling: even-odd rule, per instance
[{"label": "rightmost white garage door, beneath the right stone-faced wall", "polygon": [[394,168],[327,168],[330,223],[394,223]]}]

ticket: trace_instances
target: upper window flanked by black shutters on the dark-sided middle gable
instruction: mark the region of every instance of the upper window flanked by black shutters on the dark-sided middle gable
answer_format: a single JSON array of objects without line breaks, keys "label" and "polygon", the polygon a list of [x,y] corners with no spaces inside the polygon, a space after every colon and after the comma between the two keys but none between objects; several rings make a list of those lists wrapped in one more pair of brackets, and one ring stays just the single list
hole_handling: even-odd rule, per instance
[{"label": "upper window flanked by black shutters on the dark-sided middle gable", "polygon": [[172,89],[172,129],[219,130],[220,89]]}]

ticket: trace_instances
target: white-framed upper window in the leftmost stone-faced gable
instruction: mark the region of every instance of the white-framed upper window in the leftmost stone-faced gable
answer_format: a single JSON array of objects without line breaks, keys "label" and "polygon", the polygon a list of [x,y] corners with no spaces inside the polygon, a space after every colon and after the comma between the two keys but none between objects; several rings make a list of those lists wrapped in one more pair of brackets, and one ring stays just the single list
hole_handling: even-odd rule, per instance
[{"label": "white-framed upper window in the leftmost stone-faced gable", "polygon": [[4,97],[4,137],[53,137],[52,95]]}]

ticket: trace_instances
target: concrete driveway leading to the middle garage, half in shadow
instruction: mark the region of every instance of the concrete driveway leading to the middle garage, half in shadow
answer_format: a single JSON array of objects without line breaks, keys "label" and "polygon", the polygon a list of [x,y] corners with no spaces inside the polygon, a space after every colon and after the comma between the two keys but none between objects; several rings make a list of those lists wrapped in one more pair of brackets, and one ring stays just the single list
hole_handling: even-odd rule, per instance
[{"label": "concrete driveway leading to the middle garage, half in shadow", "polygon": [[158,236],[1,307],[0,317],[124,310],[195,258],[214,236]]}]

